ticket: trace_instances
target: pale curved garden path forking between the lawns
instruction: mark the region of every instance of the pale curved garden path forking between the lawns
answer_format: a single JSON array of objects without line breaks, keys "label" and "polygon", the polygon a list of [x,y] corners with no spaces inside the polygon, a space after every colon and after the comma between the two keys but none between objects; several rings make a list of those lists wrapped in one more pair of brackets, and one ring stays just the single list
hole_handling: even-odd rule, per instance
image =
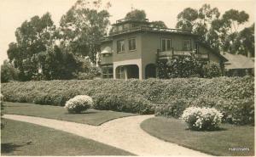
[{"label": "pale curved garden path forking between the lawns", "polygon": [[75,122],[57,121],[25,115],[3,115],[3,118],[25,121],[40,126],[48,126],[64,132],[70,132],[119,149],[124,149],[137,155],[208,156],[208,154],[187,149],[175,143],[162,141],[144,132],[140,127],[141,122],[153,116],[154,115],[129,116],[108,121],[101,126],[90,126]]}]

